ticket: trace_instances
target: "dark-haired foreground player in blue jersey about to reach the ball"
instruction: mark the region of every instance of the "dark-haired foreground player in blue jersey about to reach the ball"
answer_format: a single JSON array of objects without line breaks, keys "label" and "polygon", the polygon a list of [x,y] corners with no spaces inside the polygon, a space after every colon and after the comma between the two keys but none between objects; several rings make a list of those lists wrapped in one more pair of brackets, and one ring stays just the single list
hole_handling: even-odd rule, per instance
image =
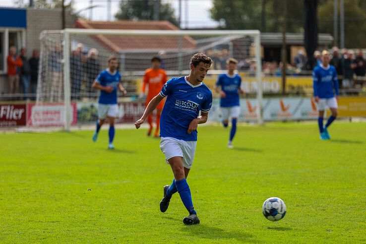
[{"label": "dark-haired foreground player in blue jersey about to reach the ball", "polygon": [[160,101],[167,97],[160,120],[160,149],[172,167],[174,179],[171,185],[163,188],[160,211],[167,211],[172,195],[178,191],[189,212],[189,216],[183,219],[185,225],[199,224],[186,178],[196,150],[197,126],[207,122],[212,105],[212,93],[202,83],[211,65],[212,60],[206,55],[193,55],[190,74],[168,80],[161,92],[147,105],[141,119],[135,122],[136,128],[139,128]]}]

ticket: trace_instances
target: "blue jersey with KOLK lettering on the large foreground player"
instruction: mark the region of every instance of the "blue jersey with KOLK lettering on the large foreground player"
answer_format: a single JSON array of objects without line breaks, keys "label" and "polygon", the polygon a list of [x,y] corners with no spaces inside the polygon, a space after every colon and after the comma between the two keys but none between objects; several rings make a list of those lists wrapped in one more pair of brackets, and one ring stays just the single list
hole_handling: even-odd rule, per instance
[{"label": "blue jersey with KOLK lettering on the large foreground player", "polygon": [[160,119],[160,136],[196,141],[196,130],[187,133],[189,123],[198,117],[199,111],[206,113],[211,109],[211,90],[202,82],[193,86],[183,76],[168,80],[160,95],[167,96]]}]

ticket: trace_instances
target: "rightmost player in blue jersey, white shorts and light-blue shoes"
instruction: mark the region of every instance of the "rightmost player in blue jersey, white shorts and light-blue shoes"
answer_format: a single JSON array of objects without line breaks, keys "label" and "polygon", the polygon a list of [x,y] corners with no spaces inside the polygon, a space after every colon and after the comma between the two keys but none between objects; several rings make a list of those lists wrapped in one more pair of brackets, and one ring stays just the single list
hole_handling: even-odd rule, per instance
[{"label": "rightmost player in blue jersey, white shorts and light-blue shoes", "polygon": [[[328,133],[329,125],[337,118],[338,115],[338,78],[337,71],[333,65],[329,64],[329,52],[322,52],[322,63],[316,66],[312,72],[313,89],[315,102],[318,104],[319,118],[318,126],[320,131],[320,139],[330,139]],[[333,89],[335,90],[335,96]],[[329,117],[325,126],[323,126],[324,110],[329,107],[332,115]]]}]

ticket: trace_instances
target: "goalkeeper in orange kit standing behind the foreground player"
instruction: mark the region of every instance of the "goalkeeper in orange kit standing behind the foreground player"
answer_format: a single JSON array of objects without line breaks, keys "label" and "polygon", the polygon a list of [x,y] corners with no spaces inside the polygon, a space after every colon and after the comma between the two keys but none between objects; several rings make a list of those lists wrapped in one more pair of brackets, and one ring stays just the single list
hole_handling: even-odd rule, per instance
[{"label": "goalkeeper in orange kit standing behind the foreground player", "polygon": [[[148,85],[148,92],[146,97],[146,104],[145,106],[149,104],[151,99],[153,99],[158,93],[161,91],[163,85],[167,82],[168,77],[165,73],[165,70],[160,68],[161,59],[159,57],[153,57],[151,59],[152,67],[145,70],[144,79],[142,83],[142,93],[145,93],[146,85]],[[159,137],[159,124],[160,124],[160,116],[161,111],[164,107],[164,101],[161,101],[159,105],[156,107],[156,130],[155,130],[155,137]],[[147,132],[147,135],[151,135],[151,131],[153,129],[153,117],[152,114],[150,114],[147,117],[147,122],[150,125],[149,131]]]}]

